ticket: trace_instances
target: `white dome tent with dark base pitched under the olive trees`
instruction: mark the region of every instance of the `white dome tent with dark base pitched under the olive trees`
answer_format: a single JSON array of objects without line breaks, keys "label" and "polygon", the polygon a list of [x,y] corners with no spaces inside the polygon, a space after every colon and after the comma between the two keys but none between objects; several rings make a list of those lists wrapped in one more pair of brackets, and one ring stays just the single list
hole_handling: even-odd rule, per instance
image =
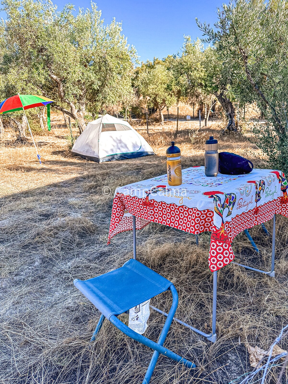
[{"label": "white dome tent with dark base pitched under the olive trees", "polygon": [[72,152],[100,163],[155,155],[152,147],[127,121],[108,114],[87,124]]}]

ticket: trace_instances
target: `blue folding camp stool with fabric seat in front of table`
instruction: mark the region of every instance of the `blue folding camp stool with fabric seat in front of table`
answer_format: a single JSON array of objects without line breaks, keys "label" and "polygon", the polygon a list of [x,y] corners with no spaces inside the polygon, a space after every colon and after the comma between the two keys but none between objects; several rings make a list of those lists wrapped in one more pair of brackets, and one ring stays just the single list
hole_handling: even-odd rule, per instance
[{"label": "blue folding camp stool with fabric seat in front of table", "polygon": [[[137,260],[131,259],[121,268],[104,273],[104,275],[85,281],[76,279],[74,280],[74,285],[101,312],[101,317],[91,341],[96,339],[104,319],[107,318],[127,336],[154,349],[143,384],[148,384],[150,382],[160,354],[184,364],[185,367],[196,367],[194,363],[163,347],[178,306],[178,294],[176,288],[169,280],[152,271]],[[128,311],[130,308],[133,308],[168,289],[172,293],[172,305],[157,343],[133,331],[117,318],[119,314]]]}]

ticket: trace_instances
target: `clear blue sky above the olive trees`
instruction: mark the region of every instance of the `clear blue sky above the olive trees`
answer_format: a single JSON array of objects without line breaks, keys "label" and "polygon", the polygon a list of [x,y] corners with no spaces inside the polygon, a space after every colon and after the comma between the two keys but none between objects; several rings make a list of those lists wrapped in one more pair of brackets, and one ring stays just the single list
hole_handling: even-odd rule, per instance
[{"label": "clear blue sky above the olive trees", "polygon": [[[58,10],[70,2],[78,7],[89,8],[89,0],[54,0]],[[128,43],[133,44],[140,61],[153,60],[154,56],[163,58],[177,53],[182,47],[184,35],[193,40],[201,37],[202,32],[195,23],[195,17],[201,22],[211,24],[217,21],[217,6],[222,3],[215,0],[100,0],[98,8],[102,10],[105,23],[122,21],[123,33]],[[4,15],[1,15],[5,18]]]}]

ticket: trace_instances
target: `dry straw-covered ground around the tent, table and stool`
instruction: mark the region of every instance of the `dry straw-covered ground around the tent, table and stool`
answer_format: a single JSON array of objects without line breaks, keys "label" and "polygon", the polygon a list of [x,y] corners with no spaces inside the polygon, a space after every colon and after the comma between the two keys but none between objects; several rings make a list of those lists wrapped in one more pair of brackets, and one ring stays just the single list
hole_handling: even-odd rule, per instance
[{"label": "dry straw-covered ground around the tent, table and stool", "polygon": [[[152,351],[120,333],[108,321],[95,343],[89,339],[99,312],[73,286],[121,266],[132,257],[132,233],[107,246],[113,193],[125,185],[166,172],[164,156],[175,123],[143,136],[157,156],[96,164],[71,156],[66,128],[37,136],[43,165],[30,142],[8,137],[0,145],[0,382],[3,384],[136,384],[142,382]],[[221,150],[259,161],[257,147],[240,134],[222,135],[220,125],[197,134],[181,122],[175,138],[183,168],[203,165],[204,141],[214,134]],[[143,131],[144,132],[144,131]],[[192,140],[190,139],[192,137]],[[111,191],[111,192],[110,192]],[[271,223],[266,227],[271,232]],[[247,344],[267,349],[288,323],[288,222],[276,218],[275,278],[228,265],[218,273],[217,341],[173,323],[165,345],[194,361],[188,370],[159,358],[151,384],[229,383],[250,371]],[[270,267],[271,239],[251,230],[261,254],[245,235],[233,241],[237,261]],[[170,279],[179,293],[177,317],[206,332],[211,327],[212,273],[209,233],[199,247],[188,233],[156,224],[137,232],[137,254],[145,265]],[[167,293],[152,300],[169,310]],[[127,315],[121,319],[127,321]],[[164,318],[151,312],[146,336],[157,340]],[[287,348],[287,341],[280,344]],[[277,382],[280,367],[268,382]],[[287,372],[282,376],[286,382]],[[237,381],[238,382],[238,381]]]}]

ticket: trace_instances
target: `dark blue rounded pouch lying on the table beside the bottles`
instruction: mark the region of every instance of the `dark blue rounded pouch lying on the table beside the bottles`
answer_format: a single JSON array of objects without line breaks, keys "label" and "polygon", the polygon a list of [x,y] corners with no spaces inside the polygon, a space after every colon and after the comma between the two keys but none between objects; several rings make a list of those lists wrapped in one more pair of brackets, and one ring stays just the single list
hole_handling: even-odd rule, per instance
[{"label": "dark blue rounded pouch lying on the table beside the bottles", "polygon": [[243,175],[250,173],[252,169],[252,162],[245,157],[230,152],[219,153],[218,170],[224,175]]}]

